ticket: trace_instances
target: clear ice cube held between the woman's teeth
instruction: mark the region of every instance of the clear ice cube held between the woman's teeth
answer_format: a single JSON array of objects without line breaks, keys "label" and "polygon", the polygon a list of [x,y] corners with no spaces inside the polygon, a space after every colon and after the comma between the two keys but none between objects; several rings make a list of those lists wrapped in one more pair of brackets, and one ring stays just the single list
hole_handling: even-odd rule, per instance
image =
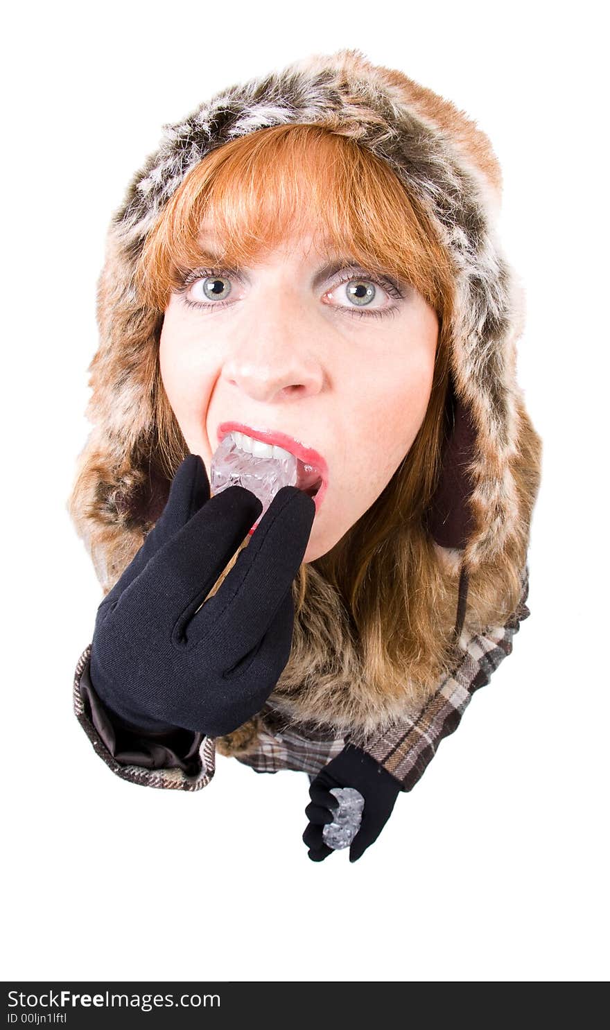
[{"label": "clear ice cube held between the woman's teeth", "polygon": [[263,511],[255,522],[259,524],[273,497],[282,486],[296,486],[298,479],[297,458],[287,451],[282,457],[256,457],[242,451],[229,433],[218,444],[212,455],[210,467],[210,487],[212,493],[221,493],[229,486],[244,486],[251,490],[263,505]]}]

